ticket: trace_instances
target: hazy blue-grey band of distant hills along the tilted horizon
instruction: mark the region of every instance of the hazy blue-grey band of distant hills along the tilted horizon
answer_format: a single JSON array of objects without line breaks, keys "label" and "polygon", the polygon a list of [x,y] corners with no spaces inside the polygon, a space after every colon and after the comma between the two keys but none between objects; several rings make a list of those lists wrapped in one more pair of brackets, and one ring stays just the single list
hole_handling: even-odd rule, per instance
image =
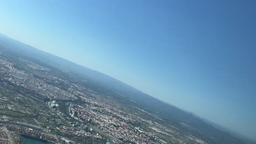
[{"label": "hazy blue-grey band of distant hills along the tilted horizon", "polygon": [[203,121],[202,118],[193,115],[193,113],[185,112],[175,106],[164,103],[159,99],[151,97],[136,88],[98,71],[40,51],[2,34],[0,34],[0,46],[2,47],[0,51],[8,51],[15,53],[15,55],[19,57],[25,57],[32,61],[68,70],[70,73],[89,81],[91,87],[98,92],[108,93],[113,97],[126,101],[126,104],[134,105],[149,113],[154,113],[154,115],[166,121],[167,124],[175,125],[175,127],[181,131],[185,131],[185,133],[193,133],[193,135],[200,136],[207,143],[248,143],[248,141],[244,141],[234,133],[226,133],[226,130],[216,127],[216,125],[212,123]]}]

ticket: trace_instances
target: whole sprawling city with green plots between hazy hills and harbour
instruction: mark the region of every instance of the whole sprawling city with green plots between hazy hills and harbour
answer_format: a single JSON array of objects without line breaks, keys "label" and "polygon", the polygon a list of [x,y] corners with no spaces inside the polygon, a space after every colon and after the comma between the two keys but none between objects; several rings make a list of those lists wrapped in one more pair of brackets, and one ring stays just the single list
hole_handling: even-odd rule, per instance
[{"label": "whole sprawling city with green plots between hazy hills and harbour", "polygon": [[182,133],[185,124],[167,124],[136,101],[104,94],[63,69],[2,51],[0,75],[0,120],[16,134],[8,141],[3,133],[5,143],[19,142],[17,133],[55,143],[206,143]]}]

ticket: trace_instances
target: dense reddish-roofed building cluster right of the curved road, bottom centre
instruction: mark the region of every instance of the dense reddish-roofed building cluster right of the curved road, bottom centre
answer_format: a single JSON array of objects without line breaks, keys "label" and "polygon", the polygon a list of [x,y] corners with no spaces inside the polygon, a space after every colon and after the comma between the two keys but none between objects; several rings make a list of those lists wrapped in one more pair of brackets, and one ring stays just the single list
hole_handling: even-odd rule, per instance
[{"label": "dense reddish-roofed building cluster right of the curved road, bottom centre", "polygon": [[124,142],[156,143],[150,132],[133,126],[137,123],[135,118],[120,107],[108,106],[90,98],[84,100],[85,105],[69,106],[69,115],[74,119],[97,125],[98,129]]}]

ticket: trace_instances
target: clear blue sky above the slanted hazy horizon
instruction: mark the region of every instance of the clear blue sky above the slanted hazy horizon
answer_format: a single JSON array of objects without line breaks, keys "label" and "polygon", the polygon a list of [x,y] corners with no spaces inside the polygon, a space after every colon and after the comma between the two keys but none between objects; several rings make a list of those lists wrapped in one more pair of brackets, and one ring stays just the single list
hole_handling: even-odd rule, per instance
[{"label": "clear blue sky above the slanted hazy horizon", "polygon": [[0,0],[0,33],[256,140],[255,5]]}]

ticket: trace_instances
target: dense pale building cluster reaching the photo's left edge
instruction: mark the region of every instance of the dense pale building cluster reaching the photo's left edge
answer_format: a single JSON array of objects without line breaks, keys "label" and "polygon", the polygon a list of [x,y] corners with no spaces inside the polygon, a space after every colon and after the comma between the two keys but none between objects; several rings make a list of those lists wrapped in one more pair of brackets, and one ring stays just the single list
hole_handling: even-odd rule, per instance
[{"label": "dense pale building cluster reaching the photo's left edge", "polygon": [[[36,65],[30,68],[34,70],[42,69],[37,68]],[[0,75],[3,75],[2,77],[4,77],[3,79],[5,81],[9,81],[17,86],[21,86],[26,89],[30,89],[33,92],[36,92],[38,95],[33,95],[33,97],[38,100],[44,100],[47,97],[59,100],[77,99],[77,97],[75,97],[75,95],[73,95],[72,93],[64,91],[63,89],[55,86],[58,85],[58,81],[61,81],[61,85],[63,85],[65,81],[57,77],[51,76],[48,73],[46,73],[45,75],[35,75],[27,73],[27,71],[15,68],[12,63],[5,61],[4,59],[0,59]]]}]

